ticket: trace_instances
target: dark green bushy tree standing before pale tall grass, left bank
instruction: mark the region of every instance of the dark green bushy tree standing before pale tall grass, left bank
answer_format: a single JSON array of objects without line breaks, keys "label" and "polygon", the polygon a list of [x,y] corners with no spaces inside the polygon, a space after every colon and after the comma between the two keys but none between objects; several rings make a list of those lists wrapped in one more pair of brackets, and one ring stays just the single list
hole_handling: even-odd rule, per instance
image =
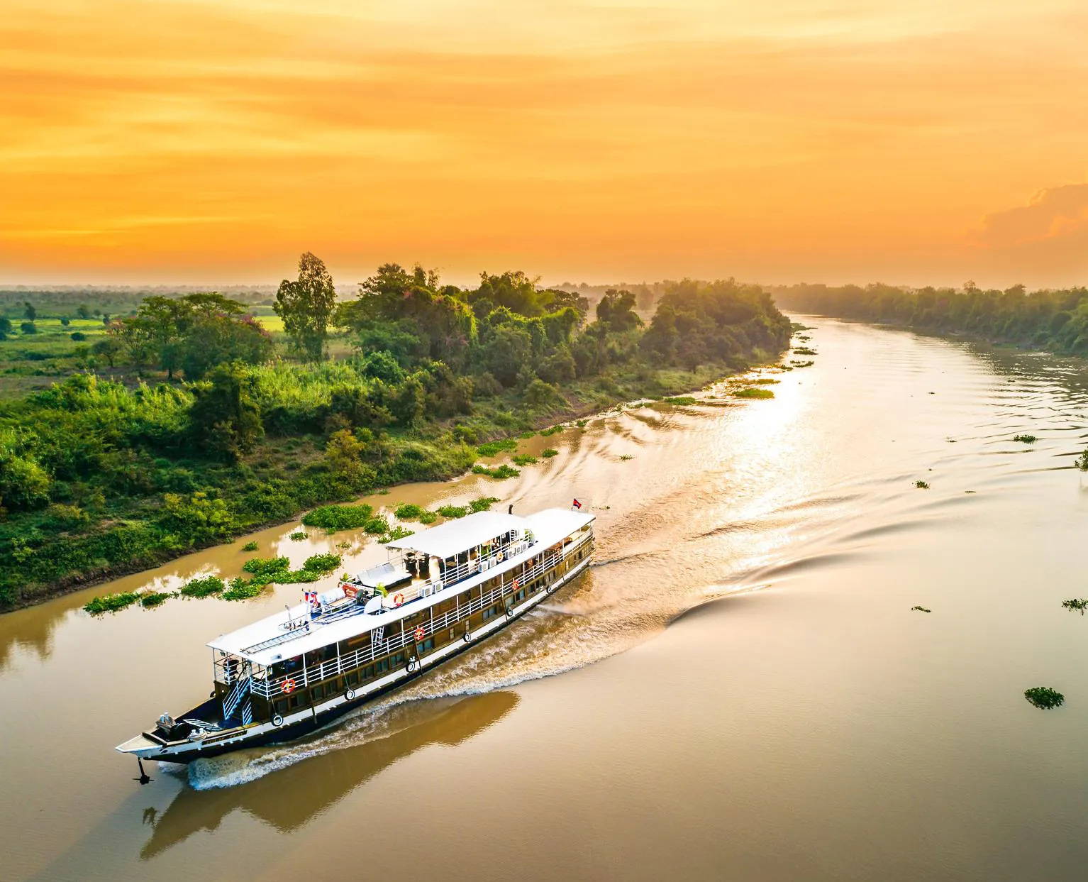
[{"label": "dark green bushy tree standing before pale tall grass, left bank", "polygon": [[254,379],[238,362],[217,366],[194,384],[189,430],[196,444],[212,456],[236,463],[264,436]]}]

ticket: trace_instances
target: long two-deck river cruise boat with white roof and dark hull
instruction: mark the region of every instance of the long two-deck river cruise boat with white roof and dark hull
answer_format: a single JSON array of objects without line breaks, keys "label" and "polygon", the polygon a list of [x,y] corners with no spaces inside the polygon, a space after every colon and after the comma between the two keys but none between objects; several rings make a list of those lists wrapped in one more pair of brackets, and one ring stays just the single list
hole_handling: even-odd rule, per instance
[{"label": "long two-deck river cruise boat with white roof and dark hull", "polygon": [[177,718],[163,713],[116,749],[190,762],[324,726],[487,639],[576,578],[593,553],[593,519],[564,509],[478,512],[392,541],[385,563],[209,642],[210,698]]}]

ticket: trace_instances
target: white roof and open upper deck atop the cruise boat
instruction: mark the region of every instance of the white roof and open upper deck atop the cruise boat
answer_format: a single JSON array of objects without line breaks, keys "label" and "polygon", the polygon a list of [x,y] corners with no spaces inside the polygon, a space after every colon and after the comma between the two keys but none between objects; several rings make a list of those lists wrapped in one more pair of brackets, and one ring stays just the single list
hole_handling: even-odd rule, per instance
[{"label": "white roof and open upper deck atop the cruise boat", "polygon": [[[589,526],[593,519],[592,514],[546,509],[527,517],[479,512],[448,520],[388,543],[391,551],[400,558],[433,561],[437,568],[430,571],[430,578],[412,579],[403,561],[372,567],[350,579],[348,585],[364,587],[374,581],[374,578],[364,578],[368,574],[386,573],[386,578],[391,579],[386,583],[391,586],[387,597],[379,593],[382,589],[375,590],[372,586],[370,592],[360,598],[369,597],[369,602],[341,601],[318,615],[311,615],[309,604],[299,603],[220,635],[208,646],[264,666],[295,658],[379,626],[387,627],[420,609],[519,566],[541,550]],[[401,578],[408,584],[398,588],[393,580]],[[399,604],[394,600],[397,595],[403,598]]]}]

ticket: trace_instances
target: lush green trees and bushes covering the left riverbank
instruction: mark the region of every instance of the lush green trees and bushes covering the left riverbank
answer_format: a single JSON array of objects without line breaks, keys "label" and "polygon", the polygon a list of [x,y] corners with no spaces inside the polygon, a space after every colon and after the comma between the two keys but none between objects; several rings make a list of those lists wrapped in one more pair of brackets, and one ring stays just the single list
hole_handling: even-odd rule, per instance
[{"label": "lush green trees and bushes covering the left riverbank", "polygon": [[[240,302],[147,297],[95,344],[144,382],[84,371],[0,403],[0,607],[452,477],[489,438],[680,391],[703,381],[689,371],[720,376],[789,342],[770,295],[732,280],[671,285],[648,327],[635,299],[606,291],[591,317],[521,272],[465,290],[388,264],[338,303],[304,255],[275,296],[285,353]],[[330,335],[350,354],[329,359]]]}]

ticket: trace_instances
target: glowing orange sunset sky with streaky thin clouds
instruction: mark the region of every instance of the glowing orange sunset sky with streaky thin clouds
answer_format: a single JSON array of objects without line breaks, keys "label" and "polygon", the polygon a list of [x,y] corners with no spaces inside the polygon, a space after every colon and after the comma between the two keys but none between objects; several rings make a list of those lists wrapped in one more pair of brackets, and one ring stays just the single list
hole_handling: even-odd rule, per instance
[{"label": "glowing orange sunset sky with streaky thin clouds", "polygon": [[1085,0],[5,0],[0,281],[1088,283]]}]

